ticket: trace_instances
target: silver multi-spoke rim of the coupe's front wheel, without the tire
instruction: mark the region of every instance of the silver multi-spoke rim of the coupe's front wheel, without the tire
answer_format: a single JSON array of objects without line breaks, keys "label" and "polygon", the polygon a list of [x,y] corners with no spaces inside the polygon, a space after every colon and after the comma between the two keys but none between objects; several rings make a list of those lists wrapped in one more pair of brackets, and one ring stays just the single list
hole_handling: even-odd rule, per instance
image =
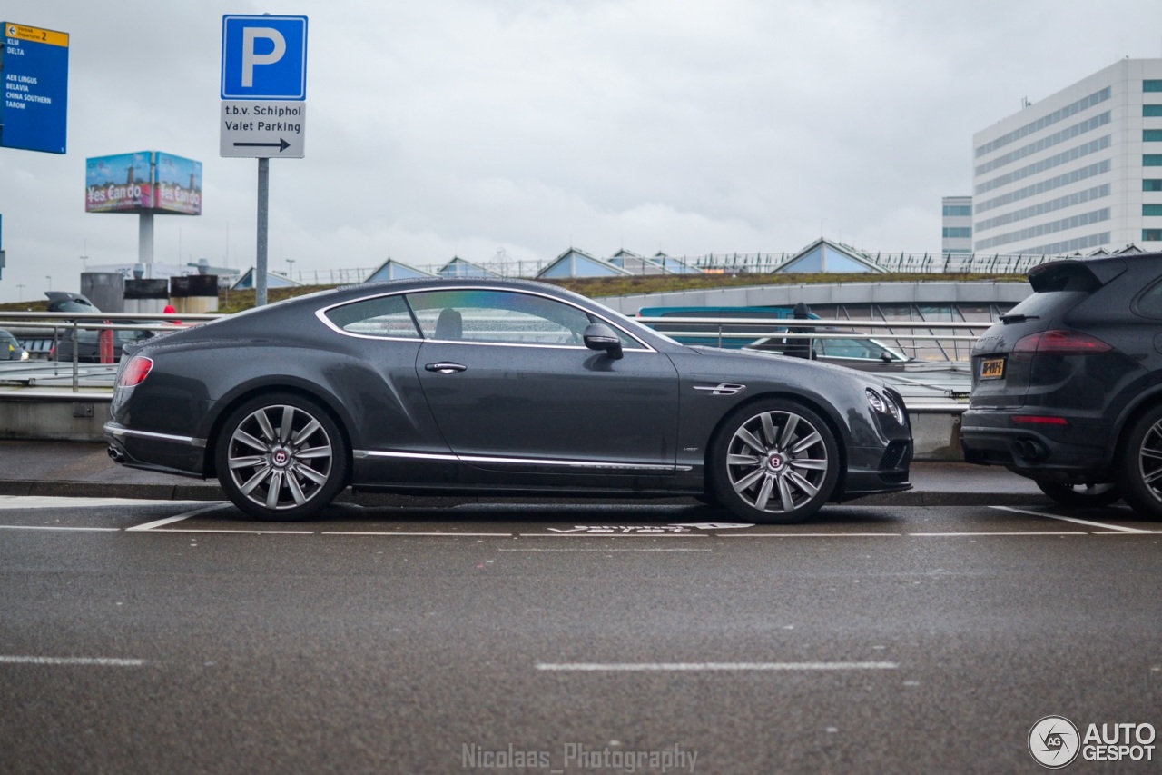
[{"label": "silver multi-spoke rim of the coupe's front wheel, without the tire", "polygon": [[726,447],[730,486],[748,506],[772,514],[795,511],[811,500],[830,464],[819,431],[794,412],[755,414]]}]

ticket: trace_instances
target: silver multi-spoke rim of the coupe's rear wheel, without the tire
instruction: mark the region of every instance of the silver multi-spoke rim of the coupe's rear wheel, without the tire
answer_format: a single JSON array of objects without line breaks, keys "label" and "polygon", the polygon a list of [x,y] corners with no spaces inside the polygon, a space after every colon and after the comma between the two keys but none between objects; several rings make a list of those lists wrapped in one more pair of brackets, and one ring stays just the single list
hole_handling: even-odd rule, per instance
[{"label": "silver multi-spoke rim of the coupe's rear wheel, without the tire", "polygon": [[267,510],[302,506],[327,484],[333,464],[327,429],[309,412],[278,404],[248,414],[230,434],[230,478],[251,503]]}]

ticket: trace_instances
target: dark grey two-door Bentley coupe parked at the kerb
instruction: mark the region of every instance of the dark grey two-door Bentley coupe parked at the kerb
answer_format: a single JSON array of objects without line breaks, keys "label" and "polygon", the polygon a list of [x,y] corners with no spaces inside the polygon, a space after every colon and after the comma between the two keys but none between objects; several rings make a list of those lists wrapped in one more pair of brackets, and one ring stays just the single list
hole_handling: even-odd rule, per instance
[{"label": "dark grey two-door Bentley coupe parked at the kerb", "polygon": [[874,376],[672,341],[528,280],[324,291],[131,346],[109,454],[217,477],[259,519],[344,488],[675,496],[792,522],[906,490],[911,428]]}]

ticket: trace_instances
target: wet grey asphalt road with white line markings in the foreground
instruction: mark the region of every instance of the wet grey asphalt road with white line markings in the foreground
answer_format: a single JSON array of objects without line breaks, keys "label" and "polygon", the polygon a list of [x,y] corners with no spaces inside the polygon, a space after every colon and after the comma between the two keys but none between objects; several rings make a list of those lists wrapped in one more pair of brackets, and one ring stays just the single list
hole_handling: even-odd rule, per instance
[{"label": "wet grey asphalt road with white line markings in the foreground", "polygon": [[1159,531],[0,497],[0,770],[1041,772],[1042,717],[1162,727]]}]

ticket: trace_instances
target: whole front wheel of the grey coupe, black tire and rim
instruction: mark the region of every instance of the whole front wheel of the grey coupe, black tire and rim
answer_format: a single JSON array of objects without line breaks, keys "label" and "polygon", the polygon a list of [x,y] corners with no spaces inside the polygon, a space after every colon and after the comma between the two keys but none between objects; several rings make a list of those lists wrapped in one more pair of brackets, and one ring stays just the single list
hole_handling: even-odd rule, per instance
[{"label": "whole front wheel of the grey coupe, black tire and rim", "polygon": [[736,412],[710,445],[718,503],[751,522],[787,525],[815,514],[839,481],[839,445],[805,406],[769,399]]}]

